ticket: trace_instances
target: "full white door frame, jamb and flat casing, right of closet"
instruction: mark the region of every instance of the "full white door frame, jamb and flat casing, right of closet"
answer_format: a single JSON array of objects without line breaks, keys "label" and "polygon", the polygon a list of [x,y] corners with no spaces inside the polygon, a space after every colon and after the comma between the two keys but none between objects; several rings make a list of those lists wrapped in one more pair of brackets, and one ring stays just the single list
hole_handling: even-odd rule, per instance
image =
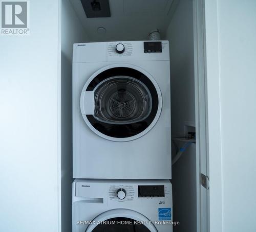
[{"label": "full white door frame, jamb and flat casing, right of closet", "polygon": [[[197,231],[222,231],[217,0],[193,0],[197,135]],[[207,189],[201,173],[208,177]]]}]

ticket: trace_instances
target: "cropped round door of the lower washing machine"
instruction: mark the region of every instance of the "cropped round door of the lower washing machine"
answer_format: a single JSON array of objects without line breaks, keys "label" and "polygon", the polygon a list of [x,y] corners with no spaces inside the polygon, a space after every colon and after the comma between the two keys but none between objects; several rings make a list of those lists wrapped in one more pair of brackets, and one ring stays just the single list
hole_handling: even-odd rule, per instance
[{"label": "cropped round door of the lower washing machine", "polygon": [[157,232],[148,218],[136,211],[123,208],[106,211],[93,221],[95,224],[89,225],[86,232]]}]

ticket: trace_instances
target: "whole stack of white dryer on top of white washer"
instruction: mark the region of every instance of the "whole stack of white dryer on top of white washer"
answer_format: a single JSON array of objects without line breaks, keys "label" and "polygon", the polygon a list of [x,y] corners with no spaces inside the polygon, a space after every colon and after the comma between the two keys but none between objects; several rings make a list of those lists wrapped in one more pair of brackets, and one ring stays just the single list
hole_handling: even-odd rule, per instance
[{"label": "whole stack of white dryer on top of white washer", "polygon": [[73,47],[73,232],[172,227],[168,41]]}]

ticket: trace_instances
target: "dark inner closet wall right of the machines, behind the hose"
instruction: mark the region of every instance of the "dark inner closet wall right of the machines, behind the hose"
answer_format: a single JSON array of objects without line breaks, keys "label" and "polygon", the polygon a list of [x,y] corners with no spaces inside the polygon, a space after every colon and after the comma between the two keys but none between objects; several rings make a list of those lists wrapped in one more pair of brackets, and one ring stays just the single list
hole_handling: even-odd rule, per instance
[{"label": "dark inner closet wall right of the machines, behind the hose", "polygon": [[[185,126],[195,126],[193,1],[180,0],[165,39],[170,43],[172,136],[184,135]],[[177,145],[181,147],[184,143]],[[195,144],[191,144],[172,167],[172,176],[174,221],[180,221],[174,231],[196,232]]]}]

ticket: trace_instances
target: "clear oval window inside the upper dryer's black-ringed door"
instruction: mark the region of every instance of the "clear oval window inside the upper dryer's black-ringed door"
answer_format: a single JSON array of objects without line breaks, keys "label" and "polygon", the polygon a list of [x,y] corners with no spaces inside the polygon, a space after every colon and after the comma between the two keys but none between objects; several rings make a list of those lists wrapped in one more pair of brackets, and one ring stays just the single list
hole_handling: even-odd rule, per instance
[{"label": "clear oval window inside the upper dryer's black-ringed door", "polygon": [[109,124],[132,124],[143,121],[152,109],[147,87],[129,76],[110,77],[95,89],[94,118]]}]

